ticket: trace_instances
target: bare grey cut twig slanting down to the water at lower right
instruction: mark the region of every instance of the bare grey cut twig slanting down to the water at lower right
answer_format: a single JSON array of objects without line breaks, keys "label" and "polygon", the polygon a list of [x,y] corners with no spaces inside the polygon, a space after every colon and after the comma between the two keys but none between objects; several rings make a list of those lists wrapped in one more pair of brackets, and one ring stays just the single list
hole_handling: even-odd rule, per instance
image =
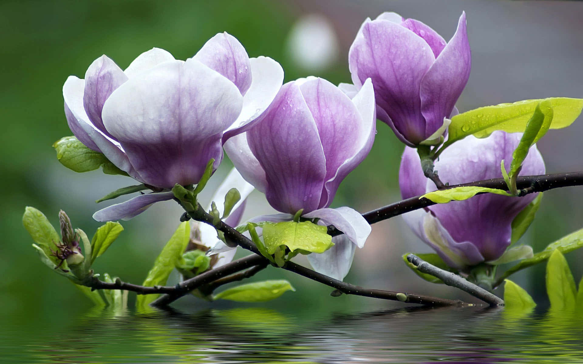
[{"label": "bare grey cut twig slanting down to the water at lower right", "polygon": [[488,303],[490,306],[503,306],[504,300],[499,298],[498,296],[491,294],[490,292],[486,291],[486,289],[480,288],[477,285],[469,282],[465,278],[460,277],[455,273],[448,272],[446,270],[442,270],[434,266],[433,264],[427,263],[420,257],[409,254],[407,256],[407,260],[409,263],[413,264],[417,267],[421,273],[426,273],[433,275],[433,277],[437,277],[442,280],[445,284],[459,288],[464,292],[468,292],[470,295],[481,299],[482,301]]}]

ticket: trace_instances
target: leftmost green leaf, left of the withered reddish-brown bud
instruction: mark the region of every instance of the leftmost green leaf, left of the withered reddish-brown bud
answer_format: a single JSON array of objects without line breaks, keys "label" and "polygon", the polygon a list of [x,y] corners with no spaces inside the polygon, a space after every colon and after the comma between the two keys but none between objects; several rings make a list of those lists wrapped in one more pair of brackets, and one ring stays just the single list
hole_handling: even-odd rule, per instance
[{"label": "leftmost green leaf, left of the withered reddish-brown bud", "polygon": [[[24,215],[22,215],[22,224],[37,246],[43,249],[47,259],[57,266],[60,260],[51,255],[51,249],[57,251],[57,244],[61,243],[61,238],[48,222],[47,217],[36,208],[27,206],[24,208]],[[66,262],[63,264],[66,268]]]}]

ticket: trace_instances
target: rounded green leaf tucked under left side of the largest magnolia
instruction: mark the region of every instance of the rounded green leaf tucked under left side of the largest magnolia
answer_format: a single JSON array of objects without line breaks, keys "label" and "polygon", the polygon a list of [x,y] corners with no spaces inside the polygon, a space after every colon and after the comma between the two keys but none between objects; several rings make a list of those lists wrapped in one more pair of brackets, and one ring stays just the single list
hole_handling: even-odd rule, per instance
[{"label": "rounded green leaf tucked under left side of the largest magnolia", "polygon": [[57,151],[59,162],[75,172],[93,171],[103,166],[103,172],[106,174],[128,175],[115,167],[106,156],[87,148],[74,136],[63,137],[52,144],[52,147]]}]

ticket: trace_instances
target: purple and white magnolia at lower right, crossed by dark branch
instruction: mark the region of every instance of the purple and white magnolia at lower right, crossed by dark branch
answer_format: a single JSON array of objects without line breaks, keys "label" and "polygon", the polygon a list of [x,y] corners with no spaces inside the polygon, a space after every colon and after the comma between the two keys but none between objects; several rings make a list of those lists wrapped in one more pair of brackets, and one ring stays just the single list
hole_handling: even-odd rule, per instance
[{"label": "purple and white magnolia at lower right, crossed by dark branch", "polygon": [[[445,149],[435,168],[451,185],[480,179],[501,178],[500,162],[512,160],[521,134],[493,132],[489,137],[465,137]],[[508,164],[508,163],[507,163]],[[522,164],[521,175],[545,174],[545,163],[536,146]],[[423,175],[417,151],[406,147],[399,170],[403,199],[436,190]],[[512,220],[535,199],[485,193],[465,201],[436,204],[403,215],[415,234],[451,267],[465,269],[498,259],[511,242]]]}]

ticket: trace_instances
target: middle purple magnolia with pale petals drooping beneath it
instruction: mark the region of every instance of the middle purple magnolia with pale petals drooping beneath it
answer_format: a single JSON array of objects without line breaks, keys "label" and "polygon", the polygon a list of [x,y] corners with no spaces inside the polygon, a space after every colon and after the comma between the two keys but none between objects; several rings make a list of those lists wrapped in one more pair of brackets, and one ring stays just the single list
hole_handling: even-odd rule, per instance
[{"label": "middle purple magnolia with pale petals drooping beneath it", "polygon": [[283,213],[254,221],[290,221],[303,210],[302,217],[345,233],[333,238],[331,249],[308,256],[316,270],[340,280],[370,225],[352,208],[328,206],[373,146],[375,119],[370,80],[351,99],[328,81],[308,77],[284,84],[257,123],[224,144],[243,178]]}]

